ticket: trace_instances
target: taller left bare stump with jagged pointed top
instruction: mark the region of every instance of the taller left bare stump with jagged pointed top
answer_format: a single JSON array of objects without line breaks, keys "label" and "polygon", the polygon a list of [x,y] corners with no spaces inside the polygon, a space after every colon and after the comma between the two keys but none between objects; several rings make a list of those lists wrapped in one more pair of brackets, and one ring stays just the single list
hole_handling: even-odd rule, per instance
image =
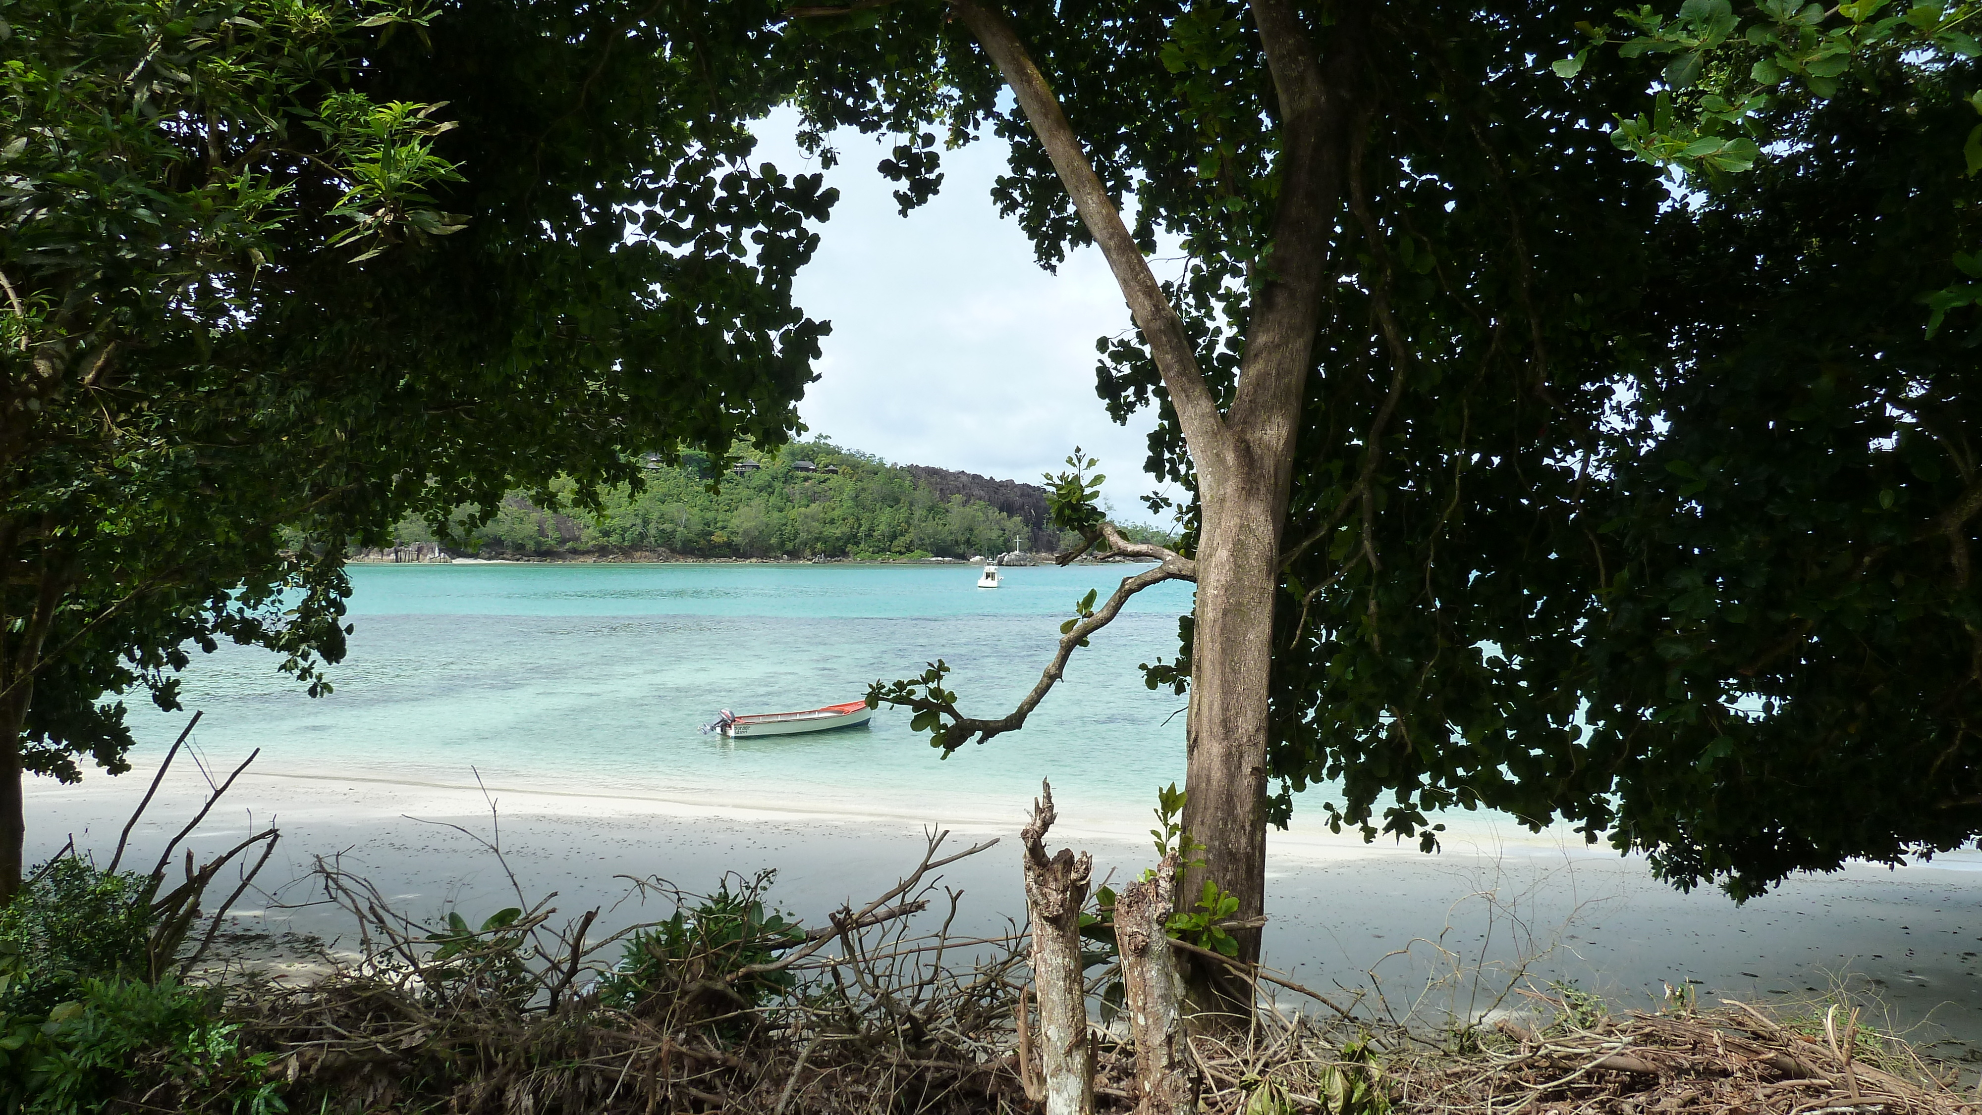
[{"label": "taller left bare stump with jagged pointed top", "polygon": [[1088,1044],[1088,1002],[1080,980],[1080,907],[1088,901],[1094,858],[1062,848],[1046,858],[1041,844],[1052,828],[1052,786],[1039,784],[1033,822],[1019,832],[1025,846],[1025,909],[1033,919],[1033,992],[1039,996],[1039,1060],[1046,1077],[1046,1115],[1092,1115],[1094,1046]]}]

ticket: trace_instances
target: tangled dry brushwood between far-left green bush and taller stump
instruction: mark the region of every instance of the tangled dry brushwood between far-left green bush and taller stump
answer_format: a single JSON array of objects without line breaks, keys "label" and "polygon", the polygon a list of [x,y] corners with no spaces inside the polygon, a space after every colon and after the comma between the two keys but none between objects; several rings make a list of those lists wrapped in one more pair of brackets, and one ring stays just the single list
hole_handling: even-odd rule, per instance
[{"label": "tangled dry brushwood between far-left green bush and taller stump", "polygon": [[[543,903],[418,925],[321,863],[365,959],[307,988],[238,994],[234,1018],[272,1054],[291,1109],[997,1111],[1023,1103],[1021,935],[949,935],[961,891],[936,871],[995,840],[941,856],[945,838],[817,929],[767,911],[763,873],[714,895],[664,889],[670,919],[599,941],[597,909],[553,931]],[[941,927],[912,931],[924,913]]]}]

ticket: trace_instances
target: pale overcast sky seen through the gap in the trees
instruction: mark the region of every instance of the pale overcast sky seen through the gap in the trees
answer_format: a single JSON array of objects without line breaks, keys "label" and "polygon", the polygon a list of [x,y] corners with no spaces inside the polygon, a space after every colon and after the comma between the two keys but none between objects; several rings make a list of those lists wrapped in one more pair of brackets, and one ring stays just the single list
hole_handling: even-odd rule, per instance
[{"label": "pale overcast sky seen through the gap in the trees", "polygon": [[[767,121],[753,160],[817,172],[791,123]],[[1100,252],[1074,253],[1058,273],[1033,263],[989,196],[1003,143],[943,152],[941,194],[904,218],[894,182],[874,170],[894,141],[836,139],[826,184],[840,200],[797,281],[799,305],[832,323],[821,378],[799,404],[807,426],[896,463],[1027,483],[1080,446],[1102,459],[1116,517],[1154,521],[1138,499],[1156,485],[1142,471],[1154,418],[1116,426],[1094,394],[1094,339],[1130,329]]]}]

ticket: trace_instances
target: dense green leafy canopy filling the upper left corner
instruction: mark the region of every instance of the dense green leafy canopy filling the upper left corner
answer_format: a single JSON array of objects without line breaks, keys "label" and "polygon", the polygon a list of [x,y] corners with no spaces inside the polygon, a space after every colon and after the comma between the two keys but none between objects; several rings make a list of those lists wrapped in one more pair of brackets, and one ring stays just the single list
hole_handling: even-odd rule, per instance
[{"label": "dense green leafy canopy filling the upper left corner", "polygon": [[0,14],[16,856],[22,768],[121,764],[101,695],[172,705],[216,638],[339,658],[341,555],[408,511],[559,475],[583,503],[644,452],[795,424],[825,327],[791,277],[832,198],[747,160],[765,12]]}]

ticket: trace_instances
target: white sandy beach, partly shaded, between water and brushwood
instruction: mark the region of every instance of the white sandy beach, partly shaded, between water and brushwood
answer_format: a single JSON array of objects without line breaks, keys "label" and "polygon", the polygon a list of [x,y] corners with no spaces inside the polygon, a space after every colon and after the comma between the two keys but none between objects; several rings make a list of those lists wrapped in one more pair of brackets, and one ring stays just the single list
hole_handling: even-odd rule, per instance
[{"label": "white sandy beach, partly shaded, between water and brushwood", "polygon": [[[77,786],[28,784],[28,858],[77,848],[107,856],[151,768]],[[224,772],[216,772],[224,774]],[[490,778],[499,842],[523,891],[559,891],[577,915],[610,905],[628,885],[616,875],[666,877],[684,889],[714,889],[725,871],[777,867],[773,899],[817,921],[842,901],[860,901],[908,871],[924,826],[955,828],[957,848],[1003,842],[943,871],[963,887],[957,929],[997,929],[1023,913],[1015,832],[1021,816],[930,816],[906,810],[803,812],[751,800],[747,792],[682,800],[618,788]],[[149,865],[206,794],[184,759],[174,764],[133,834],[133,860]],[[1060,802],[1056,844],[1090,850],[1096,875],[1126,879],[1148,865],[1148,824]],[[961,810],[957,810],[961,812]],[[274,820],[281,846],[264,871],[266,895],[244,899],[244,927],[349,939],[335,907],[305,905],[315,856],[343,856],[402,909],[432,915],[458,905],[482,917],[513,905],[496,858],[462,832],[492,836],[490,802],[474,774],[375,764],[327,770],[295,762],[250,768],[192,840],[198,852],[238,842],[250,824]],[[442,824],[446,822],[446,824]],[[149,850],[149,852],[147,852]],[[1623,1004],[1649,1004],[1663,984],[1701,998],[1784,998],[1829,990],[1839,980],[1877,994],[1895,1022],[1927,1022],[1954,1044],[1938,1052],[1982,1058],[1982,863],[1974,854],[1932,865],[1851,867],[1792,879],[1736,907],[1718,891],[1683,895],[1651,879],[1643,860],[1566,846],[1522,830],[1473,830],[1437,856],[1368,846],[1360,838],[1296,828],[1274,834],[1268,862],[1268,961],[1316,988],[1368,986],[1370,970],[1399,1000],[1423,994],[1435,970],[1486,968],[1449,982],[1437,1006],[1479,1010],[1506,972],[1534,957],[1536,982],[1576,980]],[[287,907],[287,909],[285,909]],[[601,929],[660,917],[664,909],[620,905]],[[1457,994],[1457,998],[1453,998]],[[1481,998],[1485,994],[1485,998]]]}]

